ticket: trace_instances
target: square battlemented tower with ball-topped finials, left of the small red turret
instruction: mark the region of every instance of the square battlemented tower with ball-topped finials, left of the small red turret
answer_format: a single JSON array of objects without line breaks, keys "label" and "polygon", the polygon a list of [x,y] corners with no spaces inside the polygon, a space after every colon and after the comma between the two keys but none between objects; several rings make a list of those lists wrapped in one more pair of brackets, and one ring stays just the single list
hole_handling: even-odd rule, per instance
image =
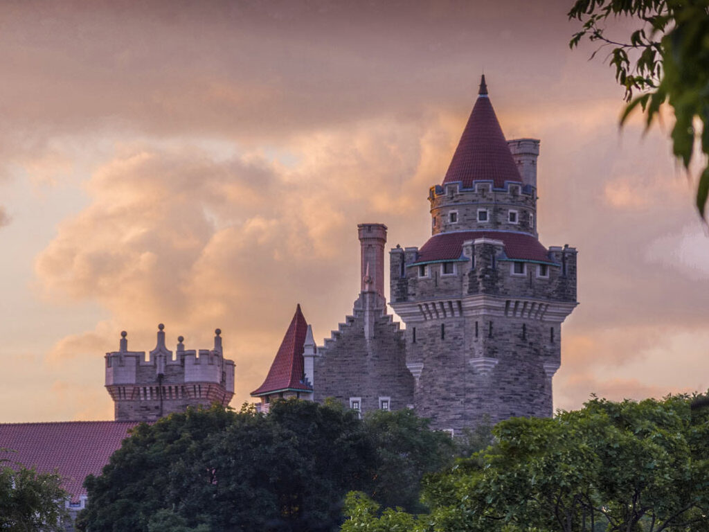
[{"label": "square battlemented tower with ball-topped finials, left of the small red turret", "polygon": [[217,329],[212,349],[185,350],[182,336],[177,353],[165,347],[164,326],[157,326],[157,345],[145,360],[145,351],[129,351],[125,331],[118,351],[106,353],[106,389],[111,394],[116,421],[156,421],[188,406],[224,406],[234,395],[234,362],[222,353]]}]

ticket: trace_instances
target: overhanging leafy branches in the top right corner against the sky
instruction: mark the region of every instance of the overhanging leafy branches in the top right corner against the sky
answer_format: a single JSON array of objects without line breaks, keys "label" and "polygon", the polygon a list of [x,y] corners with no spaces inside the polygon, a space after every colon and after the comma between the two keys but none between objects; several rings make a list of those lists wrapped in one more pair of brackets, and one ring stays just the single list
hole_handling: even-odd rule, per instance
[{"label": "overhanging leafy branches in the top right corner against the sky", "polygon": [[[687,170],[695,145],[709,155],[709,0],[576,0],[568,15],[583,23],[571,48],[582,38],[611,47],[610,65],[628,102],[621,123],[640,106],[649,127],[668,102],[676,119],[674,155]],[[625,39],[609,37],[605,23],[621,17],[637,21],[637,29]],[[636,91],[642,94],[634,97]],[[701,128],[694,127],[696,122]],[[704,164],[696,197],[702,216],[708,197],[709,166]]]}]

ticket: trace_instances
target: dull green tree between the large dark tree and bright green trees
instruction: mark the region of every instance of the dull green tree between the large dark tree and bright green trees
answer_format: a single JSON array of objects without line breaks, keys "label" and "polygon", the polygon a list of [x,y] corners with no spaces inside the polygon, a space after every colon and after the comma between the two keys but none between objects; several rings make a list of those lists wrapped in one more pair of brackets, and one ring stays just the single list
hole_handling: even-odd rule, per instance
[{"label": "dull green tree between the large dark tree and bright green trees", "polygon": [[373,411],[364,426],[376,448],[372,497],[379,504],[419,513],[423,475],[452,465],[456,447],[447,433],[431,431],[412,410]]}]

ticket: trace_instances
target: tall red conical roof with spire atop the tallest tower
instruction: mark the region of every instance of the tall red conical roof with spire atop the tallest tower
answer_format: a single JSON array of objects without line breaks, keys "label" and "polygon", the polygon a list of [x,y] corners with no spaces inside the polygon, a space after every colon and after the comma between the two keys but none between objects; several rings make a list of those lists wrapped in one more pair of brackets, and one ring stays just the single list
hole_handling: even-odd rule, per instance
[{"label": "tall red conical roof with spire atop the tallest tower", "polygon": [[503,188],[506,181],[521,182],[520,172],[490,103],[485,75],[481,78],[478,94],[443,184],[462,182],[464,188],[471,188],[474,181],[487,179],[493,181],[495,187]]}]

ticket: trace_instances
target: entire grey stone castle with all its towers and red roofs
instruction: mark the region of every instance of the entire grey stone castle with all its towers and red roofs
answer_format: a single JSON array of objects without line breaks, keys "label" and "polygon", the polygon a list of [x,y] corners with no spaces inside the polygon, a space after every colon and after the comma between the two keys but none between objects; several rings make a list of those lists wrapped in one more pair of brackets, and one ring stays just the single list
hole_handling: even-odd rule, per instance
[{"label": "entire grey stone castle with all its towers and red roofs", "polygon": [[[485,78],[441,184],[430,187],[432,235],[389,252],[392,309],[384,295],[387,228],[357,226],[361,286],[352,315],[316,345],[300,306],[264,382],[258,407],[334,397],[364,413],[415,409],[432,428],[457,434],[481,421],[552,415],[561,323],[576,306],[576,250],[545,248],[537,235],[539,140],[506,140]],[[227,405],[234,363],[217,329],[211,349],[173,353],[158,326],[146,355],[106,353],[115,421],[0,424],[13,461],[65,479],[72,512],[84,506],[86,475],[98,475],[127,431],[187,406]],[[0,458],[5,458],[0,452]]]}]

